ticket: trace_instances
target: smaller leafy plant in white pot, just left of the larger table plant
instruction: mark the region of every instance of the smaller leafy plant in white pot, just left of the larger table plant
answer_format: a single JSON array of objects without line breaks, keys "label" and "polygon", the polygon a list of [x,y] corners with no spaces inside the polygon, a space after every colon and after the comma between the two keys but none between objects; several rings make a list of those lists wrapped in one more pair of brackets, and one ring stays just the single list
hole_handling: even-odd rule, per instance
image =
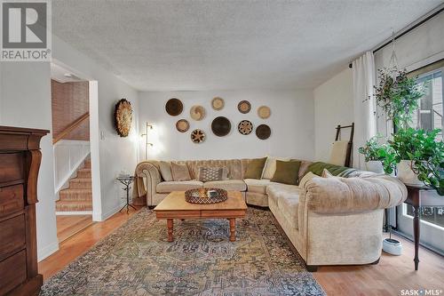
[{"label": "smaller leafy plant in white pot, just left of the larger table plant", "polygon": [[365,157],[367,171],[392,173],[392,162],[385,164],[389,160],[389,156],[392,156],[391,147],[380,144],[379,139],[381,138],[380,135],[370,138],[358,151]]}]

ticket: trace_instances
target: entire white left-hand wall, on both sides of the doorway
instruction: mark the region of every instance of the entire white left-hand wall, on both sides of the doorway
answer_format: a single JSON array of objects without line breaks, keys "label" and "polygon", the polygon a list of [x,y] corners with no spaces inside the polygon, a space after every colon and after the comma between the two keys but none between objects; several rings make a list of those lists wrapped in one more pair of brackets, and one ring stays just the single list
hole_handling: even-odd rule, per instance
[{"label": "entire white left-hand wall, on both sides of the doorway", "polygon": [[[123,191],[115,182],[116,175],[122,170],[131,172],[137,164],[137,92],[56,36],[52,36],[52,57],[76,69],[75,74],[95,79],[99,84],[99,117],[96,119],[99,122],[97,132],[103,132],[103,138],[99,140],[102,203],[93,218],[104,220],[121,205]],[[2,62],[0,72],[0,124],[51,130],[50,63]],[[120,138],[114,130],[114,106],[121,98],[130,100],[135,110],[129,138]],[[44,137],[41,147],[43,159],[37,188],[39,203],[36,206],[39,260],[58,249],[51,133]]]}]

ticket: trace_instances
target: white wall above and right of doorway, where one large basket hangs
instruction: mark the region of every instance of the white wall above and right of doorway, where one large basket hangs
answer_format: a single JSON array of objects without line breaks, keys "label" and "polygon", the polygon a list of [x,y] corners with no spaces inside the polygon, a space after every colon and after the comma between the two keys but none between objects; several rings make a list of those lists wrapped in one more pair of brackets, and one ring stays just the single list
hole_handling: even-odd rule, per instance
[{"label": "white wall above and right of doorway, where one large basket hangs", "polygon": [[[76,75],[98,82],[99,131],[94,132],[96,136],[97,132],[100,134],[99,174],[102,198],[101,208],[99,212],[94,209],[93,219],[105,220],[121,206],[123,192],[115,177],[121,171],[132,172],[138,163],[138,92],[57,36],[52,37],[52,58],[65,68],[73,69]],[[115,103],[122,98],[130,100],[134,110],[131,135],[127,138],[118,136],[114,127]],[[93,120],[94,118],[91,118],[91,121]],[[92,148],[91,141],[91,156],[93,156]],[[91,164],[94,171],[94,160]]]}]

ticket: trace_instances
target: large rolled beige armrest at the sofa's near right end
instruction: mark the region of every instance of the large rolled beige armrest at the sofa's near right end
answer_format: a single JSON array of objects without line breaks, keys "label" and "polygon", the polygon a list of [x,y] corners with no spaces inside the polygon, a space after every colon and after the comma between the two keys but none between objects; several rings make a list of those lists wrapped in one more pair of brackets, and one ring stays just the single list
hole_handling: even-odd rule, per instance
[{"label": "large rolled beige armrest at the sofa's near right end", "polygon": [[407,198],[407,188],[387,175],[365,178],[313,178],[305,184],[308,211],[324,214],[368,212],[391,208]]}]

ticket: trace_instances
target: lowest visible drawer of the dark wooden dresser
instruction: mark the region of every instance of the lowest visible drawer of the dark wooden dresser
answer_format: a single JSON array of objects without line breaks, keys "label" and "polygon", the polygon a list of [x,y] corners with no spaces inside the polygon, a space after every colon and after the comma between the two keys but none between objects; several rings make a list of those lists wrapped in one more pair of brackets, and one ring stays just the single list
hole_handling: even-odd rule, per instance
[{"label": "lowest visible drawer of the dark wooden dresser", "polygon": [[26,252],[20,251],[0,261],[0,295],[10,292],[27,279]]}]

